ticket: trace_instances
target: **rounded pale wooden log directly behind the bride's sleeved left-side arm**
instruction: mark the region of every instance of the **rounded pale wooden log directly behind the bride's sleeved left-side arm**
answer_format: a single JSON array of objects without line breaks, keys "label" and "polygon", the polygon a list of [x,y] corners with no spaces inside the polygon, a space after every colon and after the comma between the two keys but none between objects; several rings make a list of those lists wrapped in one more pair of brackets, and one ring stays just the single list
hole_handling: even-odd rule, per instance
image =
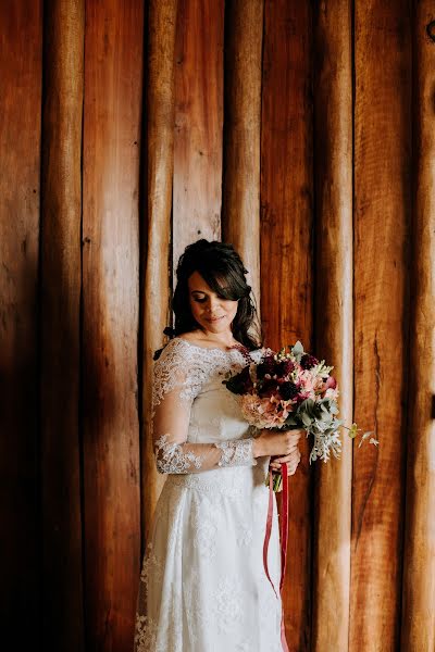
[{"label": "rounded pale wooden log directly behind the bride's sleeved left-side arm", "polygon": [[[170,324],[171,210],[174,166],[174,51],[177,0],[153,0],[149,10],[147,88],[147,220],[144,287],[141,505],[145,540],[163,486],[151,439],[152,356]],[[142,541],[142,553],[145,550]]]}]

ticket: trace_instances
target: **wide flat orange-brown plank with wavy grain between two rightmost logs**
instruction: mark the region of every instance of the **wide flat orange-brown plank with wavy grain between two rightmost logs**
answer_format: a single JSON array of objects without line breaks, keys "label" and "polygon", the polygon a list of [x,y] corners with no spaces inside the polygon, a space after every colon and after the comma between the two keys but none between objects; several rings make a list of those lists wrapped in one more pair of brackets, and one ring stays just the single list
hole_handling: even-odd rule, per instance
[{"label": "wide flat orange-brown plank with wavy grain between two rightmost logs", "polygon": [[380,446],[353,451],[349,648],[389,652],[401,594],[410,16],[405,1],[355,9],[355,421]]}]

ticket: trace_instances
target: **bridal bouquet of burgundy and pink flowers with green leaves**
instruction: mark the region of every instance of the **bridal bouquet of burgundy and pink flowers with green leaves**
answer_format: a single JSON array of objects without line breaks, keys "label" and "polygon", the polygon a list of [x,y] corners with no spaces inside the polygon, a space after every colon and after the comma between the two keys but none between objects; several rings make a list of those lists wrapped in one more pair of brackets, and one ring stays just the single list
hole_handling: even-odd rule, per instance
[{"label": "bridal bouquet of burgundy and pink flowers with green leaves", "polygon": [[[331,454],[339,457],[340,427],[346,428],[352,439],[360,431],[357,424],[345,426],[336,416],[339,391],[336,379],[331,376],[333,368],[324,360],[307,353],[297,341],[277,353],[265,350],[259,363],[250,362],[223,383],[238,396],[241,413],[250,425],[271,430],[303,428],[307,436],[312,435],[311,464],[318,457],[327,462]],[[372,432],[364,432],[359,446]],[[372,437],[370,443],[378,442]],[[281,486],[281,474],[274,474],[274,490],[279,491]]]}]

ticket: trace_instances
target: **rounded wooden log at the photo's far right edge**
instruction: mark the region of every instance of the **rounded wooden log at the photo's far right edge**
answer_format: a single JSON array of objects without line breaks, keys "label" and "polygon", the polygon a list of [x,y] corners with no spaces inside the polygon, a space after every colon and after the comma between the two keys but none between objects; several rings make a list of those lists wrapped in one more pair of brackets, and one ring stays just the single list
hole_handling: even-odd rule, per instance
[{"label": "rounded wooden log at the photo's far right edge", "polygon": [[435,13],[417,2],[413,29],[413,197],[407,524],[401,650],[435,650]]}]

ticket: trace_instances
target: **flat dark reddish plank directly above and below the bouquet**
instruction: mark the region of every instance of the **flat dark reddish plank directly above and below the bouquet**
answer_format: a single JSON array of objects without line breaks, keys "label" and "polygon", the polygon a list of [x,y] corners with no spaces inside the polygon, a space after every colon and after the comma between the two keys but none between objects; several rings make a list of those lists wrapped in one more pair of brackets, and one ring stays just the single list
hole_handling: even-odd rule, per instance
[{"label": "flat dark reddish plank directly above and below the bouquet", "polygon": [[[310,4],[264,5],[261,118],[261,315],[272,348],[312,348],[312,103]],[[289,481],[284,591],[290,650],[310,649],[308,444]]]}]

